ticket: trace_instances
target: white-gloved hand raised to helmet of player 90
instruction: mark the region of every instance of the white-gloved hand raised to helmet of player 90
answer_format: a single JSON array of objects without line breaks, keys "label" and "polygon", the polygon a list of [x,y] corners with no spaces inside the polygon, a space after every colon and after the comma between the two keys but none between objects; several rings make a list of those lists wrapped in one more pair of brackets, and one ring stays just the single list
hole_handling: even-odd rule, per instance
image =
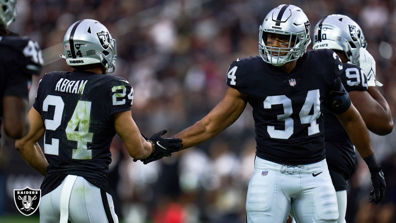
[{"label": "white-gloved hand raised to helmet of player 90", "polygon": [[368,87],[373,87],[373,86],[379,86],[381,87],[383,84],[381,84],[379,81],[376,80],[375,78],[375,60],[373,56],[366,50],[366,48],[361,47],[359,50],[359,63],[360,63],[360,68],[363,69],[364,74],[367,77],[367,85]]}]

